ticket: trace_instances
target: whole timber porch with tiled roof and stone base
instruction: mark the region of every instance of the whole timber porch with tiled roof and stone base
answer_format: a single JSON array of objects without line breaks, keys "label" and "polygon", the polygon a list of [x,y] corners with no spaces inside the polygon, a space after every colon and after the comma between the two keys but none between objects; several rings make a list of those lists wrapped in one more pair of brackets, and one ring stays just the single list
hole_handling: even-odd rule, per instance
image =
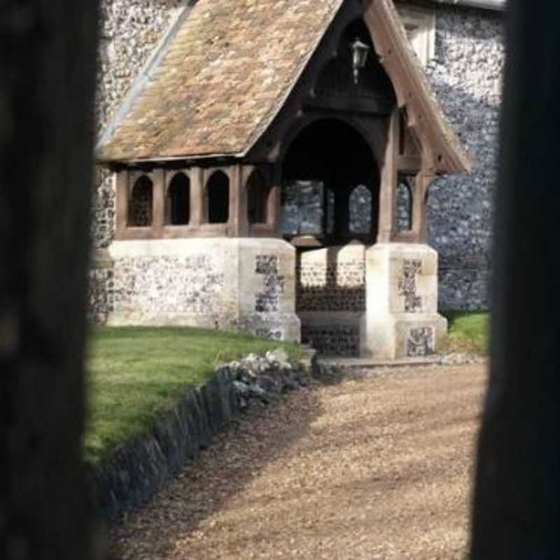
[{"label": "whole timber porch with tiled roof and stone base", "polygon": [[339,356],[437,351],[430,188],[476,159],[411,21],[392,0],[178,10],[97,146],[115,209],[104,321],[246,330]]}]

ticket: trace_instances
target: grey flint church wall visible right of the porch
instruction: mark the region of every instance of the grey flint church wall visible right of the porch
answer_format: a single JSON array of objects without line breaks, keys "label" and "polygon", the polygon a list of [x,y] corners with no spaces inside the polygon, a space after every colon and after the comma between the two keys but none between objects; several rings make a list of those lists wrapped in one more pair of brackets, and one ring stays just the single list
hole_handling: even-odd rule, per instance
[{"label": "grey flint church wall visible right of the porch", "polygon": [[444,177],[430,190],[430,245],[440,256],[440,307],[489,305],[492,205],[496,182],[503,14],[437,8],[435,59],[427,73],[437,98],[476,160],[470,175]]}]

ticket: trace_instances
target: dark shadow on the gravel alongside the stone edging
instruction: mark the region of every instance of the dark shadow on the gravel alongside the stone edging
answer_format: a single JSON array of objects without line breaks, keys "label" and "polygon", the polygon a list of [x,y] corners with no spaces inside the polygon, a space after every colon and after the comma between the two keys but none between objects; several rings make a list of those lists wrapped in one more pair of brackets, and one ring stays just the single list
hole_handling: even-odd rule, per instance
[{"label": "dark shadow on the gravel alongside the stone edging", "polygon": [[[109,558],[167,558],[179,542],[190,542],[200,531],[214,530],[206,520],[226,510],[269,465],[289,456],[290,449],[323,414],[314,389],[321,383],[339,381],[342,376],[314,380],[308,388],[283,396],[281,402],[253,407],[230,423],[151,502],[112,522]],[[262,496],[262,500],[272,499],[273,495]],[[187,553],[188,545],[183,551]]]}]

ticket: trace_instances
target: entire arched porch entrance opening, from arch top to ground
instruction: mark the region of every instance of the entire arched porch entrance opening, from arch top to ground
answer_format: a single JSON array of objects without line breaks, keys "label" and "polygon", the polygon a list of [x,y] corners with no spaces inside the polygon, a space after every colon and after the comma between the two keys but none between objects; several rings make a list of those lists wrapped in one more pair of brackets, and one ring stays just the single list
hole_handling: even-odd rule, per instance
[{"label": "entire arched porch entrance opening, from arch top to ground", "polygon": [[325,118],[300,130],[283,160],[281,208],[283,237],[297,249],[302,342],[327,355],[358,356],[379,167],[356,127]]}]

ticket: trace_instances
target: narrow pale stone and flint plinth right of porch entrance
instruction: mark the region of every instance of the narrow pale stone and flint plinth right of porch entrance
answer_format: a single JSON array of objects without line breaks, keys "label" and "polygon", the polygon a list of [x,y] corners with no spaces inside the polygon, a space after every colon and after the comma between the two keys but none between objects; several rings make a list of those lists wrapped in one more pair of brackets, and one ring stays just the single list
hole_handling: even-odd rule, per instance
[{"label": "narrow pale stone and flint plinth right of porch entrance", "polygon": [[365,263],[360,354],[394,360],[436,353],[447,335],[437,314],[437,253],[421,244],[378,244]]}]

